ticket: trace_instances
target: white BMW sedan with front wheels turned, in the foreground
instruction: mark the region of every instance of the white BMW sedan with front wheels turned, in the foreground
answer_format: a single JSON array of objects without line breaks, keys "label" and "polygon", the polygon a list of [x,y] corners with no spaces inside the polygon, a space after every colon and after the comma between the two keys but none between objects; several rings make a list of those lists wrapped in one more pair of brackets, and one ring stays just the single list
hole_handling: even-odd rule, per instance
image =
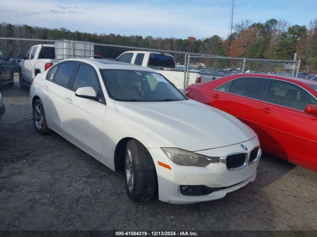
[{"label": "white BMW sedan with front wheels turned, in the foreground", "polygon": [[64,60],[30,90],[35,129],[51,130],[112,170],[125,169],[135,201],[193,203],[254,181],[254,131],[187,99],[156,71],[98,59]]}]

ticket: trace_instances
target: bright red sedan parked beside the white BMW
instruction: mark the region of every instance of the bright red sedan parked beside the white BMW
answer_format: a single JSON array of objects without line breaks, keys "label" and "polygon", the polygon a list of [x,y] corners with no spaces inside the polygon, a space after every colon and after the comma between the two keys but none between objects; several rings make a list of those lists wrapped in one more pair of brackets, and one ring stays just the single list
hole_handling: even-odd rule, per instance
[{"label": "bright red sedan parked beside the white BMW", "polygon": [[238,74],[192,84],[185,93],[249,125],[264,152],[317,171],[317,81]]}]

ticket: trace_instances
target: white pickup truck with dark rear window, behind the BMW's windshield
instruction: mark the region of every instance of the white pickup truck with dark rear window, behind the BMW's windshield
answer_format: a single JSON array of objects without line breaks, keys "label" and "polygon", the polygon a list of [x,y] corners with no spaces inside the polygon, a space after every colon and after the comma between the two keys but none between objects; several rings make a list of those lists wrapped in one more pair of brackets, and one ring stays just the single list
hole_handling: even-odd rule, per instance
[{"label": "white pickup truck with dark rear window, behind the BMW's windshield", "polygon": [[[152,68],[177,88],[184,89],[184,69],[175,69],[175,60],[170,54],[153,51],[126,51],[115,60]],[[190,70],[188,84],[195,83],[200,77],[199,72]]]}]

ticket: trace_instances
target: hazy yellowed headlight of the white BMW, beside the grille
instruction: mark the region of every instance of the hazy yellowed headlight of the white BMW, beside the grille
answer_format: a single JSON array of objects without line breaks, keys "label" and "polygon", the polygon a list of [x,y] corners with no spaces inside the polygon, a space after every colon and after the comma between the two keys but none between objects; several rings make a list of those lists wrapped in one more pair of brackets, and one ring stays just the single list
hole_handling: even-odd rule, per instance
[{"label": "hazy yellowed headlight of the white BMW, beside the grille", "polygon": [[219,162],[218,157],[207,157],[179,148],[163,147],[161,149],[170,160],[179,165],[205,167],[210,163]]}]

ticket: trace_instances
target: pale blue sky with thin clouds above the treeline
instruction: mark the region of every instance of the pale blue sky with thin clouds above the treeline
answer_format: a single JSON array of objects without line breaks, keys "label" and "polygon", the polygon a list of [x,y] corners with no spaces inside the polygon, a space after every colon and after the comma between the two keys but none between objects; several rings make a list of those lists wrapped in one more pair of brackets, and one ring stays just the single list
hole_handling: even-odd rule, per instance
[{"label": "pale blue sky with thin clouds above the treeline", "polygon": [[[161,38],[226,38],[232,0],[0,0],[0,22]],[[317,0],[235,0],[234,23],[271,18],[308,25]]]}]

